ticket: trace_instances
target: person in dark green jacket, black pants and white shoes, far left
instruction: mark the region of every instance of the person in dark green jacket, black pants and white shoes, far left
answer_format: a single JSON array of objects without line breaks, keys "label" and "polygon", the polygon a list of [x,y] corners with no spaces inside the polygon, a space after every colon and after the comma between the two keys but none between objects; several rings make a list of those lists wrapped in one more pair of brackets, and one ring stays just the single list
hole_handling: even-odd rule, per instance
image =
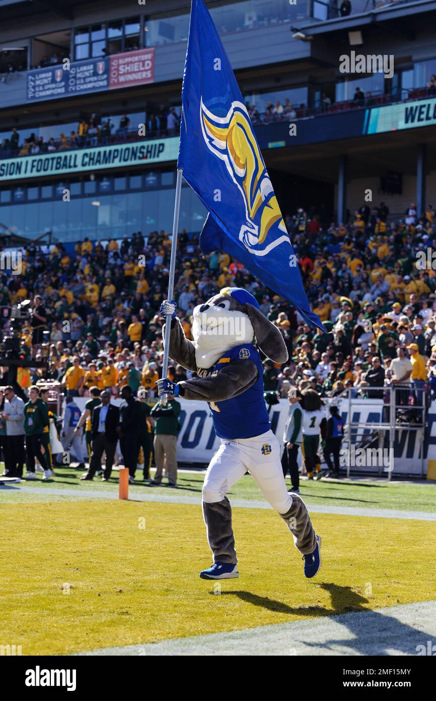
[{"label": "person in dark green jacket, black pants and white shoes, far left", "polygon": [[50,479],[51,470],[48,469],[45,459],[46,451],[43,446],[43,433],[48,426],[48,409],[45,402],[39,397],[39,389],[35,385],[29,390],[30,399],[24,404],[24,433],[26,435],[26,465],[27,479],[36,479],[35,458],[44,470],[43,479]]}]

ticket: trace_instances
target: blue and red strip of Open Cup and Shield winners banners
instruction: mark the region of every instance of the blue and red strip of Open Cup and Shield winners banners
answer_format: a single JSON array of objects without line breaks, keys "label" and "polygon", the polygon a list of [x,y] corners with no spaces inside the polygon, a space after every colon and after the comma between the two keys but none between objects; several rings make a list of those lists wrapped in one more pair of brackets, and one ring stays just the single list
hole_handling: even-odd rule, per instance
[{"label": "blue and red strip of Open Cup and Shield winners banners", "polygon": [[113,56],[73,61],[27,71],[27,102],[55,100],[77,93],[129,88],[154,83],[155,49],[147,48]]}]

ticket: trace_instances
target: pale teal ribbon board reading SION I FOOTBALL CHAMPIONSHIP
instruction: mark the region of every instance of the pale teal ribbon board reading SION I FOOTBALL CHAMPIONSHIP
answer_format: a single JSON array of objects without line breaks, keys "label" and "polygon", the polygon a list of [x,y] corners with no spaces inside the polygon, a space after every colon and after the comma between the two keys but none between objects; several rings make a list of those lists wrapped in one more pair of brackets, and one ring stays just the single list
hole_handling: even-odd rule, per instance
[{"label": "pale teal ribbon board reading SION I FOOTBALL CHAMPIONSHIP", "polygon": [[175,161],[178,142],[178,137],[169,137],[142,143],[113,144],[91,149],[38,154],[38,156],[5,158],[4,161],[0,161],[0,182],[41,175],[62,175],[86,170],[101,170],[101,168]]}]

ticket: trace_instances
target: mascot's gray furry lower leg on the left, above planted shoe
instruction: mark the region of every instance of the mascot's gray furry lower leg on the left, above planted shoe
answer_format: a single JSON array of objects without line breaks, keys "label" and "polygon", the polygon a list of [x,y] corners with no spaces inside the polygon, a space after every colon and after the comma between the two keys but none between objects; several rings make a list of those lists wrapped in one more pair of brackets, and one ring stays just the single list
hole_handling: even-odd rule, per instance
[{"label": "mascot's gray furry lower leg on the left, above planted shoe", "polygon": [[[203,517],[207,541],[213,554],[213,562],[237,564],[232,530],[232,508],[227,496],[223,501],[203,502]],[[315,546],[314,546],[315,547]]]}]

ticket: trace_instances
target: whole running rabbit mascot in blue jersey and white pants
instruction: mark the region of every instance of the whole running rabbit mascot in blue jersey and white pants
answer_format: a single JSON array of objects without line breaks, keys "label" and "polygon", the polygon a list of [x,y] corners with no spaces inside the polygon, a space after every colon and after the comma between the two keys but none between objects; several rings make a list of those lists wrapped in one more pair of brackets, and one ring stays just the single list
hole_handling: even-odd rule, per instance
[{"label": "whole running rabbit mascot in blue jersey and white pants", "polygon": [[304,501],[286,490],[279,441],[271,430],[264,400],[258,348],[274,362],[286,362],[288,351],[279,329],[262,314],[253,295],[239,287],[227,287],[195,308],[194,342],[185,337],[174,301],[164,301],[160,312],[172,318],[169,357],[196,372],[197,377],[178,383],[161,379],[157,381],[158,393],[208,402],[221,439],[202,489],[213,565],[200,577],[239,576],[226,494],[247,471],[293,534],[303,555],[304,574],[315,576],[321,567],[321,538],[314,531]]}]

